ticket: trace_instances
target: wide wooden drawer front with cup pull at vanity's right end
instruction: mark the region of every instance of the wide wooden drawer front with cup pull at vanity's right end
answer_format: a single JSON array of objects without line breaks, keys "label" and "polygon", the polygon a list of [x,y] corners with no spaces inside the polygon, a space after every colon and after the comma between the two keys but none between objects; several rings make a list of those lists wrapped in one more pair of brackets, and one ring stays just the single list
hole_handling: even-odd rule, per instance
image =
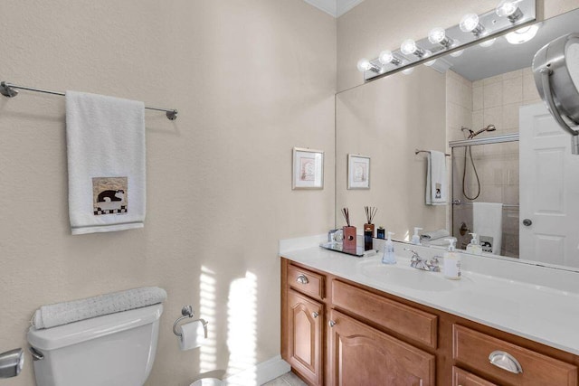
[{"label": "wide wooden drawer front with cup pull at vanity's right end", "polygon": [[[572,364],[461,325],[453,325],[452,335],[452,357],[501,384],[577,386],[577,367]],[[489,355],[495,351],[508,353],[515,358],[522,372],[508,372],[491,364]]]}]

